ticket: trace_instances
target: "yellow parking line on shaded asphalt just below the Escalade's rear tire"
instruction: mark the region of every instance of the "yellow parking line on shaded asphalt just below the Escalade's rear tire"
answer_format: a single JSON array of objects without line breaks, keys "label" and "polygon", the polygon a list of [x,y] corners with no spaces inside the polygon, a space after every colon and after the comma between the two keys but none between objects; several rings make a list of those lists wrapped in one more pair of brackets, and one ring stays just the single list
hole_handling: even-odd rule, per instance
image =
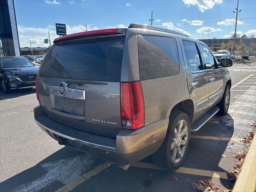
[{"label": "yellow parking line on shaded asphalt just below the Escalade's rear tire", "polygon": [[[152,163],[144,163],[144,162],[136,162],[135,164],[132,164],[134,167],[139,168],[148,168],[148,169],[155,169],[155,170],[164,170],[160,167],[158,167],[155,164]],[[186,167],[180,167],[174,172],[178,173],[184,173],[184,174],[192,174],[192,175],[200,175],[200,176],[207,176],[207,177],[214,177],[214,178],[222,178],[222,179],[228,179],[228,176],[225,172],[218,172],[218,171],[209,171],[209,170],[201,170],[201,169],[193,169],[193,168],[186,168]]]}]

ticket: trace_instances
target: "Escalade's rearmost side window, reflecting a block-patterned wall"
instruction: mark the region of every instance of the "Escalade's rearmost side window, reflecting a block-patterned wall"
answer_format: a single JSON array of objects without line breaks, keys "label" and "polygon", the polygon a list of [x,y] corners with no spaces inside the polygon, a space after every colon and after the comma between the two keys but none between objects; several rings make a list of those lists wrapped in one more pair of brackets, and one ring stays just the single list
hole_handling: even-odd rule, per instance
[{"label": "Escalade's rearmost side window, reflecting a block-patterned wall", "polygon": [[172,37],[138,35],[140,80],[180,72],[177,42]]}]

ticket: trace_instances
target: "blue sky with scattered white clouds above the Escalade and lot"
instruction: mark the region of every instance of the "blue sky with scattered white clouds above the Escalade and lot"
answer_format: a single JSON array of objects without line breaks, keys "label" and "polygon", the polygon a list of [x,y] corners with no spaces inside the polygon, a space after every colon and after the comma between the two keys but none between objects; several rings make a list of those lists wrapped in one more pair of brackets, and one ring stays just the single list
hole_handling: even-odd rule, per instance
[{"label": "blue sky with scattered white clouds above the Escalade and lot", "polygon": [[[67,33],[98,28],[126,27],[130,23],[153,24],[178,30],[192,38],[228,38],[234,31],[237,0],[14,0],[20,46],[47,46],[55,23],[67,25]],[[238,33],[256,35],[256,0],[240,0]],[[252,18],[252,19],[245,19]]]}]

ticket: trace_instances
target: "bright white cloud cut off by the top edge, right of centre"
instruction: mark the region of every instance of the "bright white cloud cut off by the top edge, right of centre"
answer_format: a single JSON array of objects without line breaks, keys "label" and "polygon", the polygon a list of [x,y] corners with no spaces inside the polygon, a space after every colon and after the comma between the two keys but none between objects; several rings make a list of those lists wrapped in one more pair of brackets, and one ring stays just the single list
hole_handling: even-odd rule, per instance
[{"label": "bright white cloud cut off by the top edge, right of centre", "polygon": [[198,9],[201,12],[204,12],[207,9],[212,9],[215,4],[222,3],[222,0],[183,0],[183,2],[187,5],[198,6]]}]

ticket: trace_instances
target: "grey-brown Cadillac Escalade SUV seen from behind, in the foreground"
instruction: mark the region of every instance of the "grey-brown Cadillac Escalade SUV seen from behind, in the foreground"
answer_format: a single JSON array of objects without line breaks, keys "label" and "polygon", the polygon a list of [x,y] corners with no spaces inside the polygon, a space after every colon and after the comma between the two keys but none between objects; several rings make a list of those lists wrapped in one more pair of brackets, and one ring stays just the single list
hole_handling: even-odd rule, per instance
[{"label": "grey-brown Cadillac Escalade SUV seen from behind, in the foreground", "polygon": [[36,77],[36,123],[59,144],[118,164],[174,170],[190,132],[230,101],[229,58],[172,30],[130,24],[56,38]]}]

